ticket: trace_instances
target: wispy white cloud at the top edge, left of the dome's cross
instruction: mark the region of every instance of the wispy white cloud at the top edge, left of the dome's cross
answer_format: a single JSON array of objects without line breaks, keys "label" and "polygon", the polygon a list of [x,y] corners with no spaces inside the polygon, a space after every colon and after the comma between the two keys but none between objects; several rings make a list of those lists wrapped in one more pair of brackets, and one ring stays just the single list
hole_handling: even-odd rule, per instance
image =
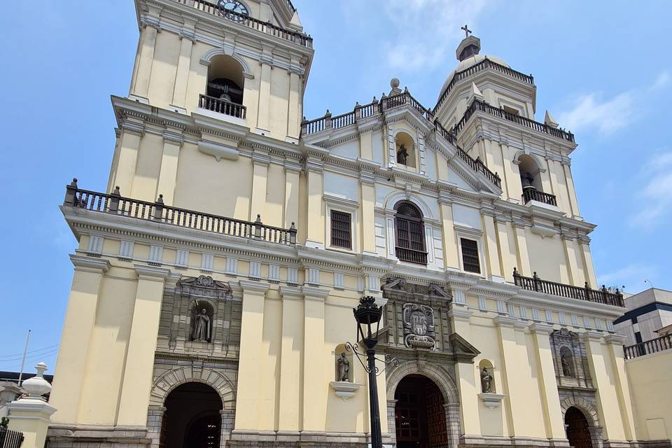
[{"label": "wispy white cloud at the top edge, left of the dome's cross", "polygon": [[391,0],[385,13],[392,29],[384,43],[388,65],[399,71],[437,66],[454,52],[465,23],[470,28],[484,10],[484,0]]}]

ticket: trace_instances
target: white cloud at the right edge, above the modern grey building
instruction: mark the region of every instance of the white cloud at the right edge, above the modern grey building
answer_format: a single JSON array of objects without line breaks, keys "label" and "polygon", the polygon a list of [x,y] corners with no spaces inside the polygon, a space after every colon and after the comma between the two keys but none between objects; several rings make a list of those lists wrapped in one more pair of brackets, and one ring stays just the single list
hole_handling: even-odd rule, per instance
[{"label": "white cloud at the right edge, above the modern grey building", "polygon": [[640,172],[643,188],[635,193],[635,200],[643,204],[631,216],[630,224],[636,228],[654,228],[672,209],[672,151],[654,155]]}]

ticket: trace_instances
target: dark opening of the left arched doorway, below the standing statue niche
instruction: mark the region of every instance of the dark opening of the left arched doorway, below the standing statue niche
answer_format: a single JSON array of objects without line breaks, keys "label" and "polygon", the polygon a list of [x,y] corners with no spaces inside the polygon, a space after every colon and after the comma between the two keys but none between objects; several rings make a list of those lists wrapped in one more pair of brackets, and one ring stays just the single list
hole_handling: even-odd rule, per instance
[{"label": "dark opening of the left arched doorway, below the standing statue niche", "polygon": [[161,430],[163,448],[218,448],[222,400],[207,384],[186,383],[168,394]]}]

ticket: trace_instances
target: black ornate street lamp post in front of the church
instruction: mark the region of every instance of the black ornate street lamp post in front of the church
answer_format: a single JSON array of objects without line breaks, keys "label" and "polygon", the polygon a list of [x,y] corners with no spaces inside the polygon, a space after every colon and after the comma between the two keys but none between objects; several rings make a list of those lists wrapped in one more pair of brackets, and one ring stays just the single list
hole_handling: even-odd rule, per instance
[{"label": "black ornate street lamp post in front of the church", "polygon": [[[371,448],[382,448],[380,433],[380,409],[378,407],[378,384],[376,381],[376,344],[378,329],[383,309],[376,304],[375,297],[366,295],[359,300],[359,305],[352,309],[357,321],[357,342],[366,347],[367,372],[369,374],[369,407],[371,415]],[[372,327],[375,329],[372,330]]]}]

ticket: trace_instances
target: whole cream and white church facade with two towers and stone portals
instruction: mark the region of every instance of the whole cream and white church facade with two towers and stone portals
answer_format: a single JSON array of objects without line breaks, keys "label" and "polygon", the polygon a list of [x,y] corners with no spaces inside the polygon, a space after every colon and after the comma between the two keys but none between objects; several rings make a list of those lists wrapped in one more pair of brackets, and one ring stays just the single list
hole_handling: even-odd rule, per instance
[{"label": "whole cream and white church facade with two towers and stone portals", "polygon": [[385,444],[639,443],[622,295],[596,284],[575,138],[535,121],[532,76],[467,30],[433,108],[393,79],[306,120],[289,0],[136,6],[108,188],[62,205],[49,446],[365,447],[363,295]]}]

